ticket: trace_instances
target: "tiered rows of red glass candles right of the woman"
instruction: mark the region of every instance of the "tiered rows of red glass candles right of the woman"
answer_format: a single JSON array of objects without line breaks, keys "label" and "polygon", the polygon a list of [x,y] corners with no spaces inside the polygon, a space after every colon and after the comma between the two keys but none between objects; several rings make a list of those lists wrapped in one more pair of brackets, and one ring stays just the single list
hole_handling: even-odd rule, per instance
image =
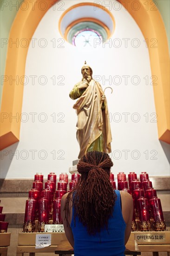
[{"label": "tiered rows of red glass candles right of the woman", "polygon": [[[149,175],[146,172],[140,174],[140,179],[137,179],[135,172],[128,174],[128,181],[124,172],[119,172],[117,175],[118,190],[125,190],[132,195],[133,198],[133,220],[132,231],[163,231],[166,229],[163,218],[163,211],[160,199],[157,198],[157,192],[149,180]],[[110,174],[110,181],[114,189],[114,175]]]}]

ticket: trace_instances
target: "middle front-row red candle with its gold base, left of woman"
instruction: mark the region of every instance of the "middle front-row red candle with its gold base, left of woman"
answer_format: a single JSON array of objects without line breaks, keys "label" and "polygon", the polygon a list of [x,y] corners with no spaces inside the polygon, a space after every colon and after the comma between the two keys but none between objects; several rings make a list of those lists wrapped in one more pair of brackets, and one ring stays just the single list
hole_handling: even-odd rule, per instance
[{"label": "middle front-row red candle with its gold base, left of woman", "polygon": [[38,230],[44,232],[45,224],[49,222],[49,202],[46,198],[39,199]]}]

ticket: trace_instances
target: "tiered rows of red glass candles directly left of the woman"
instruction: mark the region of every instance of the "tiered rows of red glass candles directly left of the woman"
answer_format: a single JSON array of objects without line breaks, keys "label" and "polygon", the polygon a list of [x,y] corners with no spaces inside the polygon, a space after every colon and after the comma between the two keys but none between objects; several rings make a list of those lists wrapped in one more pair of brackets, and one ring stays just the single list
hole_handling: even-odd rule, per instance
[{"label": "tiered rows of red glass candles directly left of the woman", "polygon": [[[77,174],[72,175],[72,188],[79,177]],[[48,174],[46,182],[42,173],[34,175],[33,188],[26,200],[23,232],[44,232],[46,224],[62,224],[60,201],[67,193],[67,184],[66,173],[59,175],[59,182],[53,172]]]}]

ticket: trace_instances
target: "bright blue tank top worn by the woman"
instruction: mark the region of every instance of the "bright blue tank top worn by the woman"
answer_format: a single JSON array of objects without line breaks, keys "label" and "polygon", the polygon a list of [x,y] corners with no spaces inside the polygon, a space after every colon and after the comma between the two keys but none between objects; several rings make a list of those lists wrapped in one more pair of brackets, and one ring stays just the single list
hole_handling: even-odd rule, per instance
[{"label": "bright blue tank top worn by the woman", "polygon": [[74,237],[74,256],[124,256],[124,234],[126,223],[121,210],[120,191],[115,190],[113,216],[109,217],[108,230],[101,229],[96,235],[89,235],[76,216],[74,227],[74,207],[72,208],[71,229]]}]

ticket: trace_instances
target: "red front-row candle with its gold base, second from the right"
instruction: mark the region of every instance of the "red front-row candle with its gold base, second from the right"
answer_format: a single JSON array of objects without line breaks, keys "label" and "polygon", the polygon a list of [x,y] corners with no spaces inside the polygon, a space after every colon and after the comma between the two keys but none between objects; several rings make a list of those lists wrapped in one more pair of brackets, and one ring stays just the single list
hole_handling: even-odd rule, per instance
[{"label": "red front-row candle with its gold base, second from the right", "polygon": [[149,203],[148,199],[141,197],[137,199],[138,211],[139,211],[139,226],[141,231],[149,231],[150,225],[150,214],[149,214]]}]

